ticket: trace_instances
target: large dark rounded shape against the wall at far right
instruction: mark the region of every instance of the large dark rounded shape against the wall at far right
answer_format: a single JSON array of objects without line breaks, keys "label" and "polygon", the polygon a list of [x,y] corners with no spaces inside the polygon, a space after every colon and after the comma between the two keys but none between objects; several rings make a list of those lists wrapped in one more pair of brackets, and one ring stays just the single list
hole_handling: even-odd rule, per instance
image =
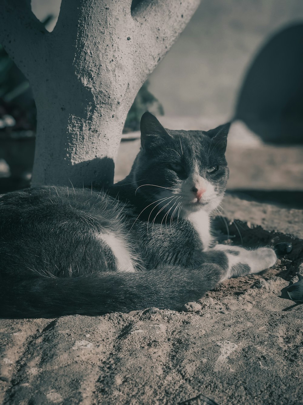
[{"label": "large dark rounded shape against the wall at far right", "polygon": [[282,29],[255,57],[236,118],[269,143],[303,143],[303,22]]}]

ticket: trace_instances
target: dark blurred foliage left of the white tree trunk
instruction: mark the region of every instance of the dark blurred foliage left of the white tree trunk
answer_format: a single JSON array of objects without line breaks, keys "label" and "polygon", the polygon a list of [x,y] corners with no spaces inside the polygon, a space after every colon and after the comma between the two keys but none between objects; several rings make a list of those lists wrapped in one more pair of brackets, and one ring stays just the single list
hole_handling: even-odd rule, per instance
[{"label": "dark blurred foliage left of the white tree trunk", "polygon": [[34,162],[36,105],[28,80],[0,45],[0,194],[29,187]]}]

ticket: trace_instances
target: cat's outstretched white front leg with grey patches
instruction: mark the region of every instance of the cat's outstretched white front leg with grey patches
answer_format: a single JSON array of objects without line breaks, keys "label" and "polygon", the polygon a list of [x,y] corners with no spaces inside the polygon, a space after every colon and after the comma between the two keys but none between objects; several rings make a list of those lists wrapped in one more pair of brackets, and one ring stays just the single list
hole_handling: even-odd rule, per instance
[{"label": "cat's outstretched white front leg with grey patches", "polygon": [[259,273],[259,271],[269,269],[277,260],[274,250],[268,247],[248,250],[238,246],[216,245],[211,250],[223,251],[227,257],[227,269],[221,281],[231,277]]}]

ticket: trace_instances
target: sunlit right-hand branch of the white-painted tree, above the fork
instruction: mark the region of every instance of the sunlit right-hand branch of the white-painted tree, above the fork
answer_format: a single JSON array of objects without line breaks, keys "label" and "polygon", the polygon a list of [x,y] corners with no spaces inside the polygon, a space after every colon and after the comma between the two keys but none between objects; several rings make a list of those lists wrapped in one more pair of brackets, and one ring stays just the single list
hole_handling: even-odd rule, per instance
[{"label": "sunlit right-hand branch of the white-painted tree, above the fork", "polygon": [[149,74],[198,8],[200,0],[148,0],[141,1],[133,12],[138,21],[137,40],[139,58]]}]

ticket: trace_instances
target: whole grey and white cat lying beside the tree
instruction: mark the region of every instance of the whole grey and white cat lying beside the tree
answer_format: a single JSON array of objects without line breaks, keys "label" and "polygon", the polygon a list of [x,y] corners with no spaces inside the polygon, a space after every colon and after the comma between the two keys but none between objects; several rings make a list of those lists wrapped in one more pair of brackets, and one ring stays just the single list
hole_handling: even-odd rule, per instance
[{"label": "whole grey and white cat lying beside the tree", "polygon": [[129,175],[104,190],[41,187],[0,198],[0,316],[179,310],[221,281],[274,265],[273,249],[215,245],[229,124],[163,128],[141,118]]}]

